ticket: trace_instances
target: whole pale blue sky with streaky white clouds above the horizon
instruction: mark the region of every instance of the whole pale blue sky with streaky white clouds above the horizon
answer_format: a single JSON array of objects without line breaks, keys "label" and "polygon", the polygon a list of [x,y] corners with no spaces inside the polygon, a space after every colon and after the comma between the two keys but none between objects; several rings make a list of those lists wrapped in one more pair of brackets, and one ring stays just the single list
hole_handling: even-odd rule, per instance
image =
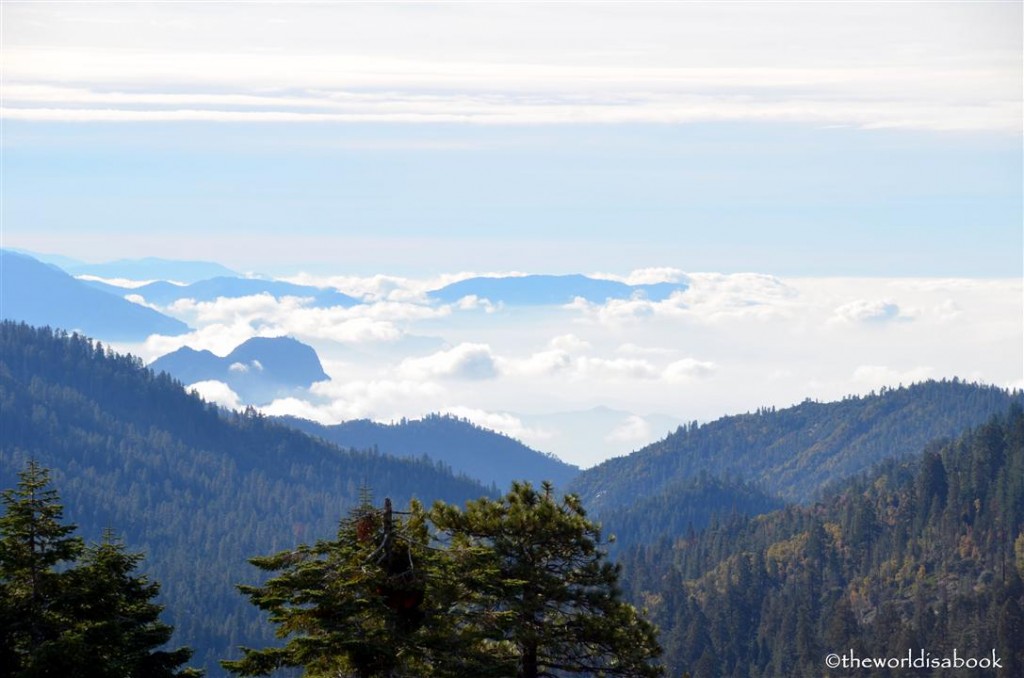
[{"label": "whole pale blue sky with streaky white clouds above the horizon", "polygon": [[264,272],[1021,273],[1019,3],[4,12],[7,246]]}]

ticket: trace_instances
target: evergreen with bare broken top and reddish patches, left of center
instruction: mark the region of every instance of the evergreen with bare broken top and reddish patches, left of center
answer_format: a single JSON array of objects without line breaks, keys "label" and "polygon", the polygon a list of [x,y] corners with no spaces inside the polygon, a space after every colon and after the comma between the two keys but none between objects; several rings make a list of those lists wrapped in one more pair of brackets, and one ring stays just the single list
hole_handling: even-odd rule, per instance
[{"label": "evergreen with bare broken top and reddish patches, left of center", "polygon": [[[239,589],[288,642],[243,648],[242,660],[221,665],[241,676],[288,667],[307,676],[476,675],[447,613],[458,587],[429,548],[426,512],[414,502],[403,519],[395,513],[390,500],[378,510],[365,496],[337,539],[252,558],[279,574]],[[461,674],[453,668],[460,663]]]}]

